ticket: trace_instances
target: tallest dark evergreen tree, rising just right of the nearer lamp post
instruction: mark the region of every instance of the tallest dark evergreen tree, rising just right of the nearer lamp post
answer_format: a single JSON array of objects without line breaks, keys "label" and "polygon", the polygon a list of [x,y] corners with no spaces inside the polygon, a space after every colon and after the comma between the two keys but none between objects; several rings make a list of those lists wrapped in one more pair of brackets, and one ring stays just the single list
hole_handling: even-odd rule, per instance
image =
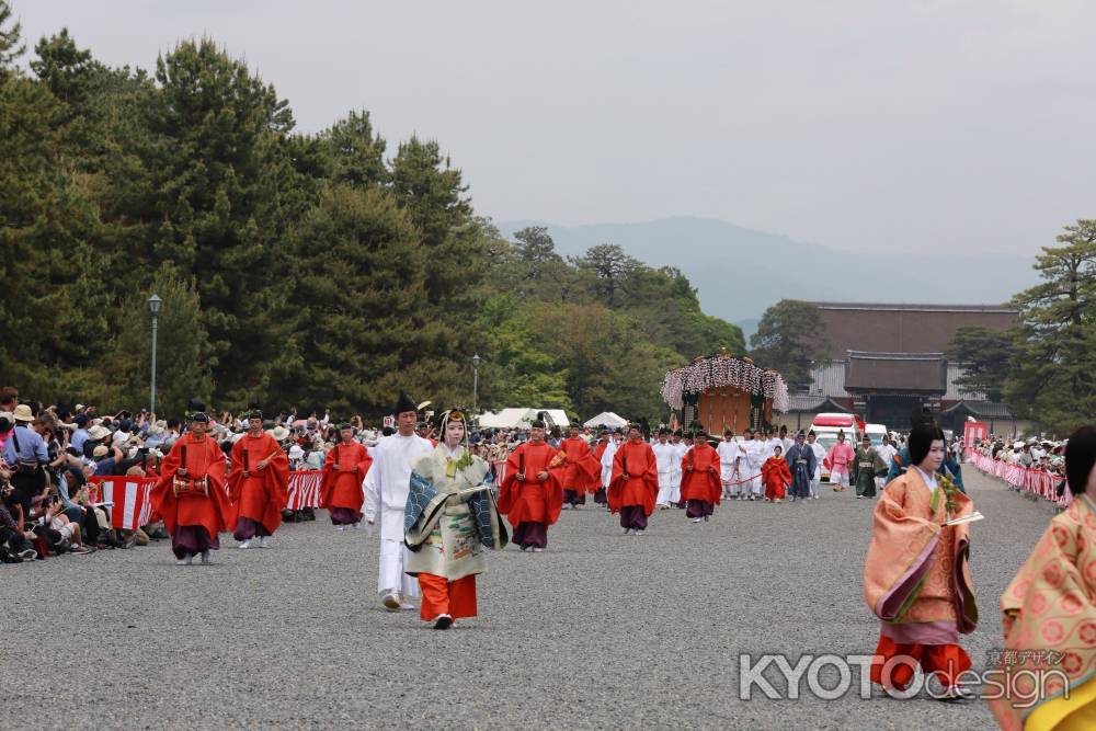
[{"label": "tallest dark evergreen tree, rising just right of the nearer lamp post", "polygon": [[293,115],[272,85],[208,38],[157,60],[149,107],[160,219],[151,258],[193,276],[213,346],[217,393],[242,406],[279,366],[283,311],[272,282],[292,270],[275,175]]}]

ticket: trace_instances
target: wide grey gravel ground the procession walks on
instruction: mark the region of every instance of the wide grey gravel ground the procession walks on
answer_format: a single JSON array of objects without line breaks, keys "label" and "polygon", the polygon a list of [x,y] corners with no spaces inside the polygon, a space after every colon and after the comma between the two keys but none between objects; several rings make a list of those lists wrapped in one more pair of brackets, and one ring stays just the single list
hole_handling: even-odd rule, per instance
[{"label": "wide grey gravel ground the procession walks on", "polygon": [[[1051,512],[972,467],[967,481],[986,515],[982,623],[963,638],[980,669]],[[592,504],[564,511],[547,552],[490,556],[480,616],[447,632],[385,612],[377,539],[322,519],[266,550],[225,536],[208,567],[165,544],[0,566],[0,697],[26,728],[994,728],[981,701],[861,699],[858,670],[838,700],[739,699],[741,653],[875,649],[872,504],[730,503],[700,525],[665,511],[627,537]]]}]

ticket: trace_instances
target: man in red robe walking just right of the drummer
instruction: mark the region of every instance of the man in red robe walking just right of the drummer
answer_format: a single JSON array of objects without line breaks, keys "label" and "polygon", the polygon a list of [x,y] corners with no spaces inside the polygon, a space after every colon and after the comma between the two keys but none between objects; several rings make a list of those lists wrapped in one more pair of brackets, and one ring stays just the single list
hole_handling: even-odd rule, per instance
[{"label": "man in red robe walking just right of the drummer", "polygon": [[270,537],[282,525],[282,511],[288,500],[289,458],[263,431],[263,414],[248,414],[248,433],[232,445],[228,472],[228,495],[235,510],[232,537],[240,548],[250,548],[259,538],[266,548]]}]

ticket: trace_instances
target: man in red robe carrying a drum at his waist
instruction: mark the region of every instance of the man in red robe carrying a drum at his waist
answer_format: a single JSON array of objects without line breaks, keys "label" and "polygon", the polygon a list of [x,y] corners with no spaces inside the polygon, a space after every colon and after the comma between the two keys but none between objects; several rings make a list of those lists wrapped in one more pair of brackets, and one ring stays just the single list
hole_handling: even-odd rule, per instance
[{"label": "man in red robe carrying a drum at his waist", "polygon": [[209,562],[209,549],[220,548],[217,534],[228,530],[232,506],[225,491],[225,453],[206,436],[209,416],[191,415],[190,431],[163,458],[152,488],[152,509],[171,535],[176,563],[190,566],[195,556]]}]

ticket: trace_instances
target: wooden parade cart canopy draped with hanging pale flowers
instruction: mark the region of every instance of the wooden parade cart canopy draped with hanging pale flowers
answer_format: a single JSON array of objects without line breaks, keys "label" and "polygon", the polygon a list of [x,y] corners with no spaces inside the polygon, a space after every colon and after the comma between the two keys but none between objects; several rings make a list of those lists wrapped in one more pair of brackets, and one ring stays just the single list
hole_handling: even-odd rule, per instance
[{"label": "wooden parade cart canopy draped with hanging pale flowers", "polygon": [[787,413],[788,385],[772,368],[721,349],[675,368],[662,381],[662,399],[681,414],[681,423],[704,424],[709,434],[731,429],[741,434],[773,423],[773,411]]}]

